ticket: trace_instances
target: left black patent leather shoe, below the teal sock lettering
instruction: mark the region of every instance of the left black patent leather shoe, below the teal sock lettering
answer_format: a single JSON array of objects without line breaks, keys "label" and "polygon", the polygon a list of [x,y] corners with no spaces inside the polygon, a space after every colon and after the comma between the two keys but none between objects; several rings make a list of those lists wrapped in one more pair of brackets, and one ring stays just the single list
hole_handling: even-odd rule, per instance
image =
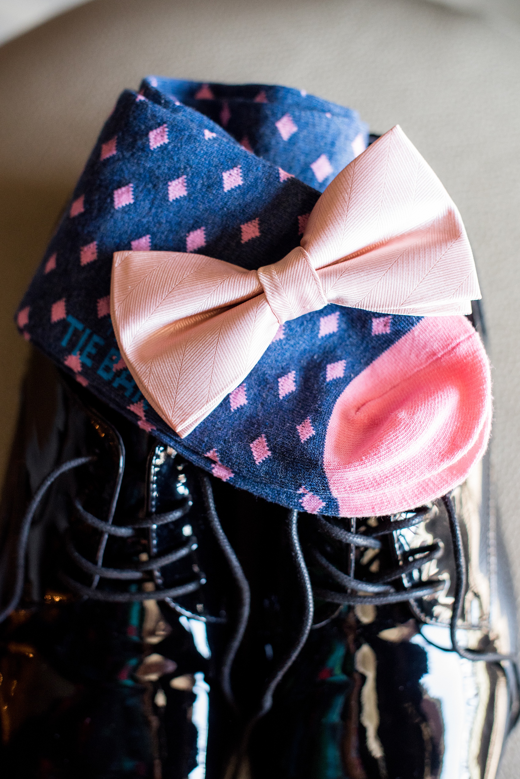
[{"label": "left black patent leather shoe, below the teal sock lettering", "polygon": [[207,477],[81,392],[34,354],[2,499],[0,773],[220,779],[246,580]]}]

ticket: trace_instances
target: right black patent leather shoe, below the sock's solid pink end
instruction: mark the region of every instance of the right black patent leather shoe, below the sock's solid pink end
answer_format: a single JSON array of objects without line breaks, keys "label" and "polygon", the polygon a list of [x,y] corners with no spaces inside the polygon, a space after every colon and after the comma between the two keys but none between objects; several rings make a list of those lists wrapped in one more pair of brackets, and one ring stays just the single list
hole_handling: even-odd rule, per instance
[{"label": "right black patent leather shoe, below the sock's solid pink end", "polygon": [[313,627],[242,767],[253,779],[493,779],[519,700],[487,460],[416,511],[296,522]]}]

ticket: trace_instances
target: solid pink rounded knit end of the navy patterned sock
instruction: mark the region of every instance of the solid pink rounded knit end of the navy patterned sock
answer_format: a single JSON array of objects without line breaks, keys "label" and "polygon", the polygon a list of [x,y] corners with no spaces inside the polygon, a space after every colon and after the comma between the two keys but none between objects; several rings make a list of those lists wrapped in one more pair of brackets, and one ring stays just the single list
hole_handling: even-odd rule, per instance
[{"label": "solid pink rounded knit end of the navy patterned sock", "polygon": [[463,316],[423,319],[348,384],[324,468],[340,516],[420,506],[460,484],[486,449],[490,365]]}]

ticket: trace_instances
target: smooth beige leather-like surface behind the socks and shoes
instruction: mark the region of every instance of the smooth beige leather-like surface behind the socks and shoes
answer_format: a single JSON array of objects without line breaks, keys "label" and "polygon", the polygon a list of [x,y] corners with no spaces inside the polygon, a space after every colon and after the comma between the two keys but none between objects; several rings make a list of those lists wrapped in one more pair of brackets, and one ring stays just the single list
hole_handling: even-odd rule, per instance
[{"label": "smooth beige leather-like surface behind the socks and shoes", "polygon": [[[154,72],[298,86],[357,108],[374,132],[399,123],[462,212],[490,333],[493,460],[520,593],[520,27],[458,5],[94,0],[0,48],[2,471],[28,349],[12,312],[119,92]],[[518,758],[517,729],[501,779],[518,776]]]}]

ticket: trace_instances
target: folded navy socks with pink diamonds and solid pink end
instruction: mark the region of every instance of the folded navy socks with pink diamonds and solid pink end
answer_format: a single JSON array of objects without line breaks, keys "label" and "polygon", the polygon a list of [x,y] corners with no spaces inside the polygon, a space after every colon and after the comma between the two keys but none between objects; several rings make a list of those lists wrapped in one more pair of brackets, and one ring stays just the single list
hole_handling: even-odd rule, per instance
[{"label": "folded navy socks with pink diamonds and solid pink end", "polygon": [[355,111],[299,90],[145,79],[104,125],[19,330],[140,428],[281,505],[384,514],[446,492],[489,432],[489,370],[463,317],[424,325],[328,305],[287,322],[182,440],[143,398],[111,326],[114,252],[273,263],[299,244],[320,191],[366,143]]}]

